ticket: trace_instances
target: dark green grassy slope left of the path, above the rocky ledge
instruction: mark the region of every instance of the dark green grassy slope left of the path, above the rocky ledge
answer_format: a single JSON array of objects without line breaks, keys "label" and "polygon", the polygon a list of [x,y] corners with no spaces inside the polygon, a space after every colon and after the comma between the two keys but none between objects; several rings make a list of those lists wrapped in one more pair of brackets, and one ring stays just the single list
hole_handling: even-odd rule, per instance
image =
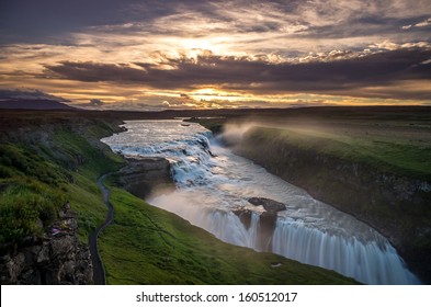
[{"label": "dark green grassy slope left of the path, above the rocky ledge", "polygon": [[0,145],[1,251],[41,237],[66,203],[78,214],[80,240],[87,242],[106,213],[95,180],[123,163],[98,139],[111,133],[103,122],[58,124]]}]

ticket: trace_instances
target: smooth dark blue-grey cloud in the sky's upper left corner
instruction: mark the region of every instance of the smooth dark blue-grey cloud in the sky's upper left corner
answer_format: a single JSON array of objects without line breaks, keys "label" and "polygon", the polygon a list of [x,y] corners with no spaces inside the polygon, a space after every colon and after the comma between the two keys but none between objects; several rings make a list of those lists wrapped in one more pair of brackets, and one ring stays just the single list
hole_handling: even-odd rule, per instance
[{"label": "smooth dark blue-grey cloud in the sky's upper left corner", "polygon": [[[52,36],[169,14],[179,1],[166,0],[4,0],[0,3],[1,43],[45,42]],[[184,3],[193,1],[182,1]],[[57,37],[61,39],[61,37]]]}]

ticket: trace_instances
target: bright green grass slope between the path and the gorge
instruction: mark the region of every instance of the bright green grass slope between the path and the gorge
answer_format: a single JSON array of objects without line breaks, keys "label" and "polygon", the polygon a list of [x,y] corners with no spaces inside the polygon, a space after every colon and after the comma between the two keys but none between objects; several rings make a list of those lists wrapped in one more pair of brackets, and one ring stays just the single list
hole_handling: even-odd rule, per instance
[{"label": "bright green grass slope between the path and the gorge", "polygon": [[[186,220],[112,189],[115,223],[101,235],[109,284],[352,284],[351,278],[224,243]],[[281,263],[272,268],[271,264]]]}]

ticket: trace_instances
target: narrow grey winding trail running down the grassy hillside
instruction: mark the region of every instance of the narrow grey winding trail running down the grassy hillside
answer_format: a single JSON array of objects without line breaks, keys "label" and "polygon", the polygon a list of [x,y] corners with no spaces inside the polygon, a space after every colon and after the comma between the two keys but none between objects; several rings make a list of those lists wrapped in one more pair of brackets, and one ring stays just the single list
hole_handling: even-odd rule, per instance
[{"label": "narrow grey winding trail running down the grassy hillside", "polygon": [[89,246],[90,246],[90,253],[91,253],[91,261],[93,262],[93,281],[95,285],[105,285],[106,284],[106,274],[103,266],[103,262],[99,254],[99,247],[98,247],[98,237],[103,229],[106,228],[113,220],[114,220],[114,207],[110,202],[111,192],[110,190],[103,184],[103,180],[112,173],[105,173],[104,175],[98,179],[98,184],[100,190],[102,191],[102,198],[107,207],[107,214],[105,221],[100,225],[89,236]]}]

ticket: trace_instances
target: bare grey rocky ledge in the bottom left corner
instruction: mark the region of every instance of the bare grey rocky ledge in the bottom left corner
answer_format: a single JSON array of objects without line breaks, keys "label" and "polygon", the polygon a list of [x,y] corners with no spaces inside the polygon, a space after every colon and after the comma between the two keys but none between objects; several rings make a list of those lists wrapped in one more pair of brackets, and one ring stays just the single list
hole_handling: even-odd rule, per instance
[{"label": "bare grey rocky ledge in the bottom left corner", "polygon": [[0,259],[1,284],[82,285],[92,283],[89,248],[79,242],[69,205],[42,238],[27,238]]}]

